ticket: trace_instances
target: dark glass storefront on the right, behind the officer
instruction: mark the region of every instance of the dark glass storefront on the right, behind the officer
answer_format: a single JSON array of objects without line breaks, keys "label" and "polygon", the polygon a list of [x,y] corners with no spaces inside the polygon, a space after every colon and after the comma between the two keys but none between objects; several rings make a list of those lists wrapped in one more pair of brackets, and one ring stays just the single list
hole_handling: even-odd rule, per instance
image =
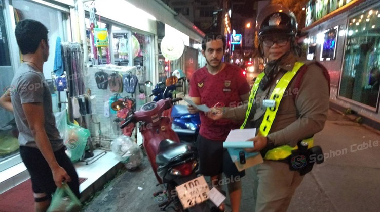
[{"label": "dark glass storefront on the right, behind the officer", "polygon": [[331,77],[331,106],[379,123],[378,1],[312,1],[306,26],[307,58],[321,62]]}]

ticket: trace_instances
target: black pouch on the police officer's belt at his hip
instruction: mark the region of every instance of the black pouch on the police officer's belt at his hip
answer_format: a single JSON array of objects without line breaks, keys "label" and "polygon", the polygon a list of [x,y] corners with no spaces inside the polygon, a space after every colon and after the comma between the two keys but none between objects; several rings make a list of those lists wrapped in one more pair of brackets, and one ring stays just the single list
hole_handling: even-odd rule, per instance
[{"label": "black pouch on the police officer's belt at his hip", "polygon": [[292,154],[287,158],[289,169],[298,171],[301,175],[312,171],[314,163],[321,164],[324,161],[322,148],[314,146],[308,149],[306,142],[298,142],[298,149],[293,150]]}]

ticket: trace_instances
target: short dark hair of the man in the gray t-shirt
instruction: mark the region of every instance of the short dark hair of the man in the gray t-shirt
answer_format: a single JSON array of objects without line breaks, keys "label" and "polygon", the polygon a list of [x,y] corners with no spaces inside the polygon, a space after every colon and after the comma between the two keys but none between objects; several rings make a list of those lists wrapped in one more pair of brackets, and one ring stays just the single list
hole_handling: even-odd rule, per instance
[{"label": "short dark hair of the man in the gray t-shirt", "polygon": [[15,35],[21,54],[33,54],[41,40],[48,44],[48,29],[39,21],[25,19],[17,23]]}]

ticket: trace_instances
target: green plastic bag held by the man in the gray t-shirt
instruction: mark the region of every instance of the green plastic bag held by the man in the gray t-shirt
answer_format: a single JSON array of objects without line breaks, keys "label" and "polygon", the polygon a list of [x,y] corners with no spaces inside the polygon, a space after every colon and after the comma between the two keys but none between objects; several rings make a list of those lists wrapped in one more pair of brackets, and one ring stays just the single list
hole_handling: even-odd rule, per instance
[{"label": "green plastic bag held by the man in the gray t-shirt", "polygon": [[47,212],[79,212],[81,208],[82,204],[77,196],[64,183],[62,188],[55,191]]}]

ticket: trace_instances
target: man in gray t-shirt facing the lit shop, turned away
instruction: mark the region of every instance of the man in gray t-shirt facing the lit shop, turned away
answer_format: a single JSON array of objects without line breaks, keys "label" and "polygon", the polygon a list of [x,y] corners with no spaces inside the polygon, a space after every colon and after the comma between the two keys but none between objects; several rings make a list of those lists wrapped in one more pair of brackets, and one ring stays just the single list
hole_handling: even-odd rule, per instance
[{"label": "man in gray t-shirt facing the lit shop, turned away", "polygon": [[34,192],[35,211],[46,211],[52,193],[67,182],[80,198],[78,174],[65,153],[52,111],[52,99],[43,74],[49,57],[48,29],[25,19],[15,29],[23,63],[11,88],[0,97],[0,106],[13,112],[19,130],[20,156]]}]

